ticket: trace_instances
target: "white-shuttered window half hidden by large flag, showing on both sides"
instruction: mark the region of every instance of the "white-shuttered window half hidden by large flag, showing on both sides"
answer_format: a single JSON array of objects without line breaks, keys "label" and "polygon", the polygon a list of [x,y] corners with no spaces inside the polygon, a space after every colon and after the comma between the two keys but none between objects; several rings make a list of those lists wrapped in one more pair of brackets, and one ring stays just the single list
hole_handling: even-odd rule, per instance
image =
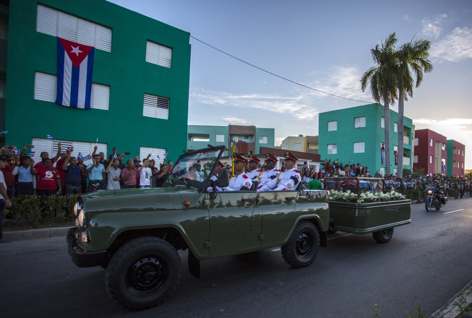
[{"label": "white-shuttered window half hidden by large flag, showing on both sides", "polygon": [[[48,73],[35,72],[34,99],[56,102],[57,76]],[[90,108],[109,110],[110,86],[92,83],[90,93]]]}]

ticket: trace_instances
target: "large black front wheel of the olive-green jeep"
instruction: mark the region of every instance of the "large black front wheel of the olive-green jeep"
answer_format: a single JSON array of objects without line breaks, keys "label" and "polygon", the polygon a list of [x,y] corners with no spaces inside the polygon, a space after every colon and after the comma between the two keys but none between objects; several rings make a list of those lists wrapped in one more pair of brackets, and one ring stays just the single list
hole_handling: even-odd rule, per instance
[{"label": "large black front wheel of the olive-green jeep", "polygon": [[128,310],[143,310],[164,302],[177,289],[180,257],[168,242],[140,237],[123,245],[108,264],[108,293]]}]

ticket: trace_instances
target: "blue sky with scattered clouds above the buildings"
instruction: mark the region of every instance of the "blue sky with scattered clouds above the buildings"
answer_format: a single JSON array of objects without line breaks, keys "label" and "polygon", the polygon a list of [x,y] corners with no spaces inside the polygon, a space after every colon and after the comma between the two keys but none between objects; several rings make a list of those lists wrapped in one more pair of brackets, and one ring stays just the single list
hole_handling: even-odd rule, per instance
[{"label": "blue sky with scattered clouds above the buildings", "polygon": [[472,169],[470,0],[111,2],[294,82],[359,100],[298,86],[190,38],[188,124],[275,128],[276,146],[287,136],[318,135],[320,112],[374,102],[360,78],[374,65],[370,50],[390,33],[398,44],[427,39],[434,69],[405,102],[405,116],[465,144]]}]

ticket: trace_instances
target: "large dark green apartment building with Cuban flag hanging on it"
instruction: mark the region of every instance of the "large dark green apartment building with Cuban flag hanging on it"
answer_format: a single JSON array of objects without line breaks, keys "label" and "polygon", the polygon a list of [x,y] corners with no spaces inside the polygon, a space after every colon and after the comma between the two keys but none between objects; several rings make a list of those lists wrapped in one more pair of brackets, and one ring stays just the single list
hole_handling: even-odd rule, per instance
[{"label": "large dark green apartment building with Cuban flag hanging on it", "polygon": [[[35,145],[36,161],[59,141],[156,161],[186,149],[190,33],[105,0],[0,3],[3,143]],[[90,109],[55,103],[58,37],[94,47]]]}]

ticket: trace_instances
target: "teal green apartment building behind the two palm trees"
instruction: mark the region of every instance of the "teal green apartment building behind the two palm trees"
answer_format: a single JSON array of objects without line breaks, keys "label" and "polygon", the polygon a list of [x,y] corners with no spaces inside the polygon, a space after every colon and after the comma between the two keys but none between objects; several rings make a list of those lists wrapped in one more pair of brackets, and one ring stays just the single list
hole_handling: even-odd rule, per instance
[{"label": "teal green apartment building behind the two palm trees", "polygon": [[[321,159],[339,159],[340,163],[360,163],[372,175],[384,175],[381,147],[384,143],[383,106],[368,104],[333,110],[319,115],[319,154]],[[404,117],[403,168],[412,169],[413,123]],[[390,110],[390,173],[396,174],[398,149],[398,113]],[[398,154],[400,156],[400,154]],[[351,161],[351,159],[353,161]]]}]

